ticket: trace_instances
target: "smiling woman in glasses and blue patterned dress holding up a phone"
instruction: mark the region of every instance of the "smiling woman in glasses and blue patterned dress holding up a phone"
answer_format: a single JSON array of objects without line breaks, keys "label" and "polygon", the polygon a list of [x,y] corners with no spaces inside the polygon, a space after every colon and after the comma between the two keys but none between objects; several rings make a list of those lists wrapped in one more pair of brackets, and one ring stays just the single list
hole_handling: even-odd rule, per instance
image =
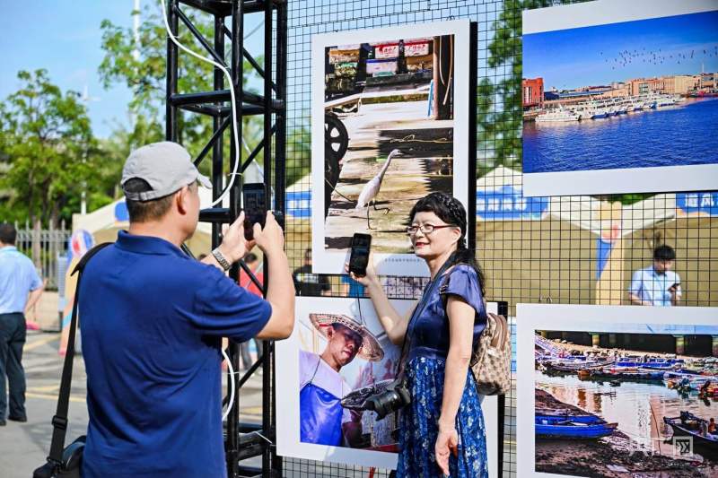
[{"label": "smiling woman in glasses and blue patterned dress holding up a phone", "polygon": [[[431,273],[425,307],[400,317],[373,268],[352,278],[372,298],[392,343],[404,345],[411,404],[399,420],[399,478],[488,476],[486,430],[469,361],[486,326],[484,278],[466,247],[466,210],[442,193],[420,199],[407,233]],[[445,265],[445,266],[444,266]],[[440,274],[441,273],[441,274]],[[438,275],[438,276],[437,276]]]}]

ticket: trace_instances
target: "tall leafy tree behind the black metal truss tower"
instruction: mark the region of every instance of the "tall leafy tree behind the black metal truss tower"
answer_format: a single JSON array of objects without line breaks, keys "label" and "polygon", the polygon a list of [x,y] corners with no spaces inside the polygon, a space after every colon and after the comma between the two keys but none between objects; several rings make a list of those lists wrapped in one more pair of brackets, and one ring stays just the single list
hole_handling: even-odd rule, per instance
[{"label": "tall leafy tree behind the black metal truss tower", "polygon": [[[212,17],[187,10],[186,13],[203,36],[210,42],[214,39],[214,21]],[[139,28],[139,44],[136,43],[133,31],[104,20],[101,22],[102,49],[105,56],[99,67],[101,80],[106,88],[112,84],[123,83],[132,91],[133,98],[128,107],[131,115],[136,119],[134,131],[124,131],[115,135],[114,140],[125,138],[127,150],[144,142],[160,141],[164,137],[164,107],[165,107],[165,81],[167,57],[167,33],[164,29],[162,12],[156,4],[147,6],[143,11],[143,19]],[[204,48],[198,44],[191,32],[180,23],[178,34],[180,42],[192,48],[203,56],[208,56]],[[231,65],[230,45],[227,39],[225,63]],[[138,52],[138,55],[136,55]],[[261,65],[263,58],[257,58]],[[246,91],[251,91],[253,79],[258,79],[250,63],[244,60],[245,75],[242,85]],[[180,92],[211,91],[213,89],[214,67],[197,60],[196,58],[180,52],[178,90]],[[224,80],[225,86],[228,81]],[[255,91],[258,92],[258,91]],[[246,144],[241,145],[242,158],[249,156],[248,150],[254,149],[262,138],[263,123],[261,117],[242,118],[242,131]],[[139,129],[139,131],[138,131]],[[194,155],[204,148],[212,136],[212,118],[205,115],[188,113],[180,110],[179,120],[180,143]],[[231,128],[224,134],[224,157],[229,159],[229,141]],[[257,161],[262,163],[260,152]],[[203,161],[200,169],[209,172],[210,161]],[[225,170],[229,161],[225,161]]]}]

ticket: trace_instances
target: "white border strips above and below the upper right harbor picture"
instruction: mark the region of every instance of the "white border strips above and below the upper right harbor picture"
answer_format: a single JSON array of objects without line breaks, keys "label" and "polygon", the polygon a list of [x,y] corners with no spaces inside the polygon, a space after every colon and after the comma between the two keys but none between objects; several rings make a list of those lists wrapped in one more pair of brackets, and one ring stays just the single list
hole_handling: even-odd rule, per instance
[{"label": "white border strips above and below the upper right harbor picture", "polygon": [[[524,10],[522,24],[529,35],[714,10],[716,0],[596,0]],[[714,190],[715,178],[718,164],[524,173],[523,196]]]}]

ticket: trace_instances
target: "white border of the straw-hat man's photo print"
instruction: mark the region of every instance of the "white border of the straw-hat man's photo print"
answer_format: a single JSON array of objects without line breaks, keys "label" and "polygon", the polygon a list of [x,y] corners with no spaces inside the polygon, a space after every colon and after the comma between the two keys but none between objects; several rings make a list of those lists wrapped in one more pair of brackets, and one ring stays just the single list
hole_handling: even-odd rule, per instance
[{"label": "white border of the straw-hat man's photo print", "polygon": [[[299,357],[300,322],[308,324],[312,313],[346,314],[355,316],[357,300],[361,301],[362,317],[375,335],[385,334],[376,317],[372,300],[355,298],[296,298],[296,321],[292,335],[277,341],[276,347],[276,452],[280,456],[292,456],[306,460],[339,463],[343,465],[374,466],[393,470],[397,467],[397,454],[357,448],[329,447],[303,443],[299,431]],[[400,314],[408,312],[416,300],[390,300]],[[498,312],[496,302],[488,302],[489,312]],[[381,333],[381,334],[380,334]],[[486,425],[486,455],[489,458],[489,477],[498,478],[498,400],[485,396],[482,402]]]}]

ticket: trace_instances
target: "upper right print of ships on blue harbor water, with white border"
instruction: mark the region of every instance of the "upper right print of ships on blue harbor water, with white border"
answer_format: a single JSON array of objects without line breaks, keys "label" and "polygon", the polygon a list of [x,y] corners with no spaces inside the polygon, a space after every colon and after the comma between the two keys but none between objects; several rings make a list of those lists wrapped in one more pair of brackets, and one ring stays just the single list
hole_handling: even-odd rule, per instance
[{"label": "upper right print of ships on blue harbor water, with white border", "polygon": [[[718,173],[716,4],[638,4],[630,12],[602,0],[524,13],[528,196],[714,187],[705,174]],[[664,5],[670,8],[661,14]],[[687,13],[676,14],[684,7]],[[586,19],[590,8],[620,10],[615,17],[624,21]],[[545,30],[546,17],[566,24]]]}]

